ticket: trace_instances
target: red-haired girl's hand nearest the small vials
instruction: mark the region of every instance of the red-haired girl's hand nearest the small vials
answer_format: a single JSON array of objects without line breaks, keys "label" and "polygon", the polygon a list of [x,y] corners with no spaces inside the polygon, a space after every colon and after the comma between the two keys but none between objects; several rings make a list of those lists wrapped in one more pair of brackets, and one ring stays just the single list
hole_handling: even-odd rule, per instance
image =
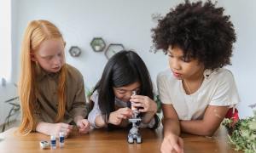
[{"label": "red-haired girl's hand nearest the small vials", "polygon": [[64,122],[49,123],[49,135],[54,135],[56,138],[59,137],[60,132],[63,132],[67,137],[72,132],[73,126]]}]

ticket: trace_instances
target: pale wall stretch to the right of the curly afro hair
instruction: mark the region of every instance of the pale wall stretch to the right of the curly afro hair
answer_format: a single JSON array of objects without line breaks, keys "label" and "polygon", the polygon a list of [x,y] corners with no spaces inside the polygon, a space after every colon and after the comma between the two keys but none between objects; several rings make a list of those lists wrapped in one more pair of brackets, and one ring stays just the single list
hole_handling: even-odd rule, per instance
[{"label": "pale wall stretch to the right of the curly afro hair", "polygon": [[226,8],[226,14],[230,14],[236,28],[237,41],[234,46],[233,65],[228,68],[234,73],[241,96],[241,116],[250,116],[253,112],[248,105],[256,103],[256,1],[224,0],[219,1],[219,5]]}]

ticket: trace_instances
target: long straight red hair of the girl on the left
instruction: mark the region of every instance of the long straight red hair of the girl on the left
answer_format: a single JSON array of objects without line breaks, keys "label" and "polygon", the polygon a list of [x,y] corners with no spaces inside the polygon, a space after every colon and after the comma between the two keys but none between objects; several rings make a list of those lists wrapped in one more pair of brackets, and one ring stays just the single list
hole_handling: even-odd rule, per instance
[{"label": "long straight red hair of the girl on the left", "polygon": [[[49,39],[61,39],[63,45],[65,42],[58,28],[47,20],[33,20],[26,27],[25,35],[21,46],[21,69],[19,81],[19,96],[21,105],[22,119],[19,127],[19,132],[27,134],[32,132],[37,126],[37,121],[34,118],[35,103],[37,100],[37,82],[35,68],[36,63],[32,61],[31,54],[40,47],[40,44]],[[66,66],[61,67],[61,73],[58,84],[58,112],[55,117],[55,122],[60,122],[63,119],[66,107]]]}]

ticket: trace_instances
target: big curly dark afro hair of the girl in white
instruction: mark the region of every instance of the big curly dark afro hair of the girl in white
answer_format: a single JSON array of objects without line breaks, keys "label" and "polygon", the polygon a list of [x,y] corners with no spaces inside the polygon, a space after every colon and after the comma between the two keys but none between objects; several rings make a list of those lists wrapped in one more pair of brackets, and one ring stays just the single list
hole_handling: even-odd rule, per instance
[{"label": "big curly dark afro hair of the girl in white", "polygon": [[206,69],[230,65],[236,33],[230,15],[224,15],[224,8],[217,8],[216,3],[186,0],[151,31],[155,48],[165,54],[169,46],[178,47],[185,59],[198,59]]}]

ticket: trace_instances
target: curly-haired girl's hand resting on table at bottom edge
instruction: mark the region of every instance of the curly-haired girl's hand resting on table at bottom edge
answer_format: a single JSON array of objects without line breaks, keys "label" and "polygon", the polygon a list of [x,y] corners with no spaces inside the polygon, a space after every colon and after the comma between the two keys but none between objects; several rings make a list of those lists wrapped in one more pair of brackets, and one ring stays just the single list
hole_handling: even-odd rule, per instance
[{"label": "curly-haired girl's hand resting on table at bottom edge", "polygon": [[160,151],[161,153],[183,153],[183,139],[175,134],[167,135],[161,144]]}]

